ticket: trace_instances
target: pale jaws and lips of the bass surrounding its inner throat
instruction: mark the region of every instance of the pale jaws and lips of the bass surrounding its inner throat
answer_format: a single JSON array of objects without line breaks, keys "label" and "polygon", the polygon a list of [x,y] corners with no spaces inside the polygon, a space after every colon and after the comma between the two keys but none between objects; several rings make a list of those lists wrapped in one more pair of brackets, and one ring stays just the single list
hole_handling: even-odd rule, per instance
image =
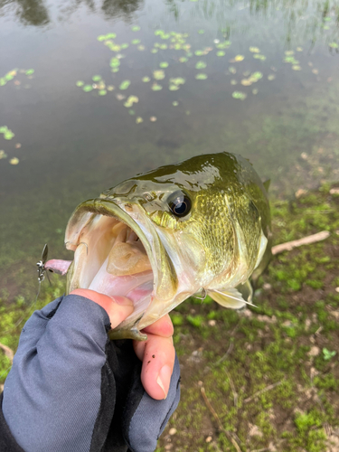
[{"label": "pale jaws and lips of the bass surrounding its inner throat", "polygon": [[[117,240],[109,234],[120,222],[137,234],[151,267],[151,270],[137,274],[135,287],[131,285],[136,279],[133,275],[129,278],[112,278],[105,271],[109,250],[114,240]],[[145,339],[145,334],[139,334],[139,330],[165,315],[161,314],[159,306],[172,306],[178,284],[172,261],[152,227],[152,222],[137,202],[127,202],[118,197],[114,201],[98,198],[82,202],[68,223],[65,243],[67,249],[75,251],[68,272],[67,293],[75,288],[90,288],[109,296],[123,295],[131,298],[135,305],[134,312],[109,335],[114,338]],[[139,325],[148,306],[155,305],[158,314],[146,316],[148,320],[144,319],[142,325]],[[166,312],[169,310],[171,308]]]}]

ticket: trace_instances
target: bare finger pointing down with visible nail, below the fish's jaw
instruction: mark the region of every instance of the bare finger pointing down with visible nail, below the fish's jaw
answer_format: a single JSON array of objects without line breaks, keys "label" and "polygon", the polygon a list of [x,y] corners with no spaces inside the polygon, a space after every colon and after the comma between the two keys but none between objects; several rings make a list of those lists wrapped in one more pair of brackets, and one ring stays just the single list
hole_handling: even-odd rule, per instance
[{"label": "bare finger pointing down with visible nail, below the fish's jaw", "polygon": [[155,400],[167,397],[174,367],[175,351],[172,336],[147,334],[144,343],[134,341],[134,348],[143,361],[141,382],[145,391]]}]

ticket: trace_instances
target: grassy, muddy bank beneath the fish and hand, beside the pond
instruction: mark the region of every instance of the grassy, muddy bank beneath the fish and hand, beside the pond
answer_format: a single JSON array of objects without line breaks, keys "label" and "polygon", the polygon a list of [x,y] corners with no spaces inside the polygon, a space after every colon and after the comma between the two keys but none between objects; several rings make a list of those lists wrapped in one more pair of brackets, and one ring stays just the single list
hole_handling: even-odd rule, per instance
[{"label": "grassy, muddy bank beneath the fish and hand, beside the pond", "polygon": [[[276,256],[260,278],[258,307],[237,312],[210,298],[190,299],[172,313],[182,399],[157,452],[338,450],[339,194],[334,192],[326,184],[272,202],[275,243],[318,231],[330,231],[330,237]],[[64,280],[55,276],[51,287],[43,285],[36,305],[27,307],[19,297],[11,309],[4,290],[0,343],[15,350],[32,308],[60,296],[63,288]],[[0,383],[9,368],[10,357],[0,353]]]}]

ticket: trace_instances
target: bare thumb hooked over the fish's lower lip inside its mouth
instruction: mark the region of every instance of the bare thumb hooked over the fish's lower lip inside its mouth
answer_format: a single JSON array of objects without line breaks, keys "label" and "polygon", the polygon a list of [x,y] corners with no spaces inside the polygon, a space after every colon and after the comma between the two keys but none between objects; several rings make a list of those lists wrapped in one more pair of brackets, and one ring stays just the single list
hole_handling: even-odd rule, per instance
[{"label": "bare thumb hooked over the fish's lower lip inside its mouth", "polygon": [[108,313],[111,328],[115,328],[134,311],[133,301],[127,297],[108,297],[88,288],[76,288],[70,295],[80,295],[89,298],[97,305],[103,307]]}]

